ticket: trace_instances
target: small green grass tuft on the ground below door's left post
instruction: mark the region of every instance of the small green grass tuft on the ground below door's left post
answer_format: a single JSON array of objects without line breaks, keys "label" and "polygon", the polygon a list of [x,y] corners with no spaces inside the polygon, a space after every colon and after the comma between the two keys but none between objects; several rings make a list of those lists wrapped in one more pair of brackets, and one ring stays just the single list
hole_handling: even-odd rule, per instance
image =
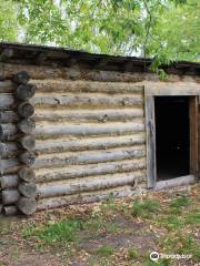
[{"label": "small green grass tuft on the ground below door's left post", "polygon": [[141,217],[149,217],[154,213],[158,213],[160,209],[159,202],[154,200],[134,200],[132,204],[132,215],[133,216],[141,216]]}]

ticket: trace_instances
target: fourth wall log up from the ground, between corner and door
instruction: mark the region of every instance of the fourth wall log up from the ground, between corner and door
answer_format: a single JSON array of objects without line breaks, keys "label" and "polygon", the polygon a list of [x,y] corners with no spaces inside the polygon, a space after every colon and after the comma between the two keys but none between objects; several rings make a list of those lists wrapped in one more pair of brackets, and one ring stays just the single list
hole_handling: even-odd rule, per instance
[{"label": "fourth wall log up from the ground, between corner and door", "polygon": [[138,158],[146,155],[144,146],[133,146],[127,149],[116,149],[109,151],[91,151],[80,153],[59,153],[40,155],[34,164],[39,167],[53,167],[77,164],[93,164],[128,158]]}]

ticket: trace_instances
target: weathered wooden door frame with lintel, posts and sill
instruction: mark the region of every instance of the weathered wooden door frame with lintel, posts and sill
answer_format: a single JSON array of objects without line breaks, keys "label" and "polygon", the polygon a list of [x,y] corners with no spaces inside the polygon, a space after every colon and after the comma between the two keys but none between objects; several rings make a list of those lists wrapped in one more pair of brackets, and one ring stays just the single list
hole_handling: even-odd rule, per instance
[{"label": "weathered wooden door frame with lintel, posts and sill", "polygon": [[[148,188],[159,190],[189,184],[199,178],[199,95],[200,85],[191,82],[153,82],[144,85]],[[157,181],[154,96],[190,96],[190,175],[188,176],[177,176],[169,181]]]}]

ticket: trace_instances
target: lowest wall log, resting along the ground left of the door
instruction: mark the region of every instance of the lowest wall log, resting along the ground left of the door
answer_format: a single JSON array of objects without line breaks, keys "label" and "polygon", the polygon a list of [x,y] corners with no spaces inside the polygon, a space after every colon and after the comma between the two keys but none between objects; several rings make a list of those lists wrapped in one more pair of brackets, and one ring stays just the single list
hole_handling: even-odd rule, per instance
[{"label": "lowest wall log, resting along the ground left of the door", "polygon": [[134,194],[134,190],[130,186],[114,187],[104,191],[96,191],[90,193],[80,193],[77,195],[67,195],[61,197],[47,197],[41,198],[38,202],[38,211],[50,209],[57,207],[63,207],[73,204],[84,204],[84,203],[93,203],[103,200],[108,200],[110,195],[113,197],[124,197],[132,196]]}]

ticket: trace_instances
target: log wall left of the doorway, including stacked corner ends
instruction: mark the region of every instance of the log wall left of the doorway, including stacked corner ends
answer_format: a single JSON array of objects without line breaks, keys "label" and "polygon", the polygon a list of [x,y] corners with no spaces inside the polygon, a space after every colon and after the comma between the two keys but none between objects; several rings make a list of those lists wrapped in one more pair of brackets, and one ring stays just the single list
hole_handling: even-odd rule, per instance
[{"label": "log wall left of the doorway, including stacked corner ends", "polygon": [[[14,85],[19,71],[31,76],[26,93]],[[37,209],[47,209],[146,187],[143,82],[158,82],[156,74],[0,63],[0,78],[8,215],[33,213],[36,197]],[[16,101],[19,91],[29,101]]]}]

